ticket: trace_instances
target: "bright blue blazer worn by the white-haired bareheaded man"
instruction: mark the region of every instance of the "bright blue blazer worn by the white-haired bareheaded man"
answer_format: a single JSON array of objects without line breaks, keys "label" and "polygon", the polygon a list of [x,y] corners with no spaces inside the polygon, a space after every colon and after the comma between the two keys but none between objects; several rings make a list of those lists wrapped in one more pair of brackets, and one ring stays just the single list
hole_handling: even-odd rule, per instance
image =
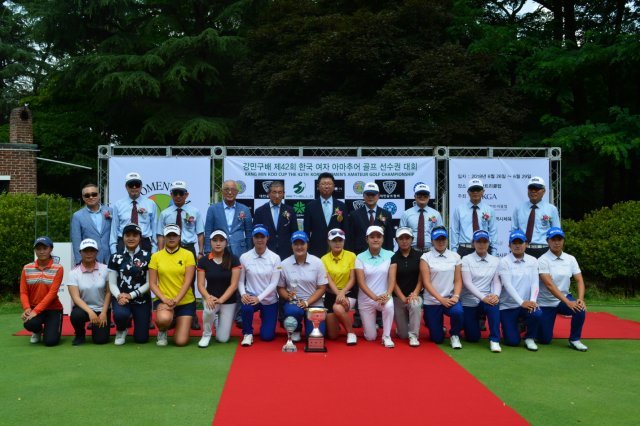
[{"label": "bright blue blazer worn by the white-haired bareheaded man", "polygon": [[216,229],[222,229],[229,236],[229,250],[240,257],[253,247],[251,211],[249,211],[249,207],[236,201],[236,212],[233,216],[231,229],[229,229],[224,207],[224,201],[220,201],[210,205],[207,209],[207,219],[204,223],[204,251],[205,253],[211,252],[209,235]]}]

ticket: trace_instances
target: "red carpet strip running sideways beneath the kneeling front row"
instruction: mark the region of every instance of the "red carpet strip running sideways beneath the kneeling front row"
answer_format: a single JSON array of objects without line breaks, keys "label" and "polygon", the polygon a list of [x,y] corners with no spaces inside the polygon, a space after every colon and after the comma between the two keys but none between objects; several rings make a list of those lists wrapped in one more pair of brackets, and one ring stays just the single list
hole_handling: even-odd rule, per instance
[{"label": "red carpet strip running sideways beneath the kneeling front row", "polygon": [[[202,319],[202,311],[198,311],[198,316]],[[18,318],[16,314],[16,318]],[[256,314],[256,319],[254,320],[254,330],[259,329],[259,317]],[[200,322],[202,324],[202,321]],[[571,325],[571,319],[565,318],[563,316],[558,316],[556,318],[556,325],[553,330],[553,337],[556,339],[567,339],[569,338],[569,327]],[[445,326],[449,327],[448,319],[445,317]],[[129,330],[130,335],[133,333],[133,330]],[[116,329],[115,327],[111,329],[111,334],[115,335]],[[171,335],[173,332],[170,331]],[[281,328],[278,328],[279,334],[286,334],[285,331]],[[90,335],[91,332],[89,331]],[[150,334],[155,336],[157,334],[156,330],[150,330]],[[362,337],[362,329],[356,330],[356,334],[358,337]],[[30,336],[26,330],[19,330],[14,333],[15,336]],[[62,335],[63,336],[73,336],[73,327],[71,326],[71,322],[69,321],[69,317],[65,316],[62,324]],[[191,336],[201,336],[201,331],[191,330]],[[242,332],[237,327],[232,327],[231,330],[232,336],[241,336]],[[420,338],[426,338],[428,332],[424,325],[420,331]],[[488,332],[483,332],[482,337],[487,338]],[[614,315],[611,315],[606,312],[589,312],[587,313],[587,321],[585,322],[584,328],[582,330],[582,338],[583,339],[640,339],[640,322],[624,320],[620,319]]]}]

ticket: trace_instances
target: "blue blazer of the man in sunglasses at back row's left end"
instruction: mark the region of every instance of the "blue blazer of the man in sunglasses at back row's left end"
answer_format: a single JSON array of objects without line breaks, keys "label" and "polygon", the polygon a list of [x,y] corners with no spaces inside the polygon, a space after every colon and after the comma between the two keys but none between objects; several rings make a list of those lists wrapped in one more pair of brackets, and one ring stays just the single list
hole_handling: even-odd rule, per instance
[{"label": "blue blazer of the man in sunglasses at back row's left end", "polygon": [[[105,212],[109,212],[109,218],[104,216]],[[100,206],[100,214],[102,214],[102,229],[96,228],[87,207],[81,208],[71,216],[71,245],[73,246],[73,259],[76,265],[82,260],[79,251],[80,242],[87,238],[91,238],[98,243],[98,262],[105,265],[109,264],[109,257],[111,257],[109,237],[111,236],[111,216],[113,211],[111,207],[103,205]]]}]

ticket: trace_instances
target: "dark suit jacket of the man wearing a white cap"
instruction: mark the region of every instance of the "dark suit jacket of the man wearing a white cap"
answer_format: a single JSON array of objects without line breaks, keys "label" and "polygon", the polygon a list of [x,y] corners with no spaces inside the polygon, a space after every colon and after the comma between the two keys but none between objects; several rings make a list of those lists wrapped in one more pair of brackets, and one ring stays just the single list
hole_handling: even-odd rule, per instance
[{"label": "dark suit jacket of the man wearing a white cap", "polygon": [[[367,228],[369,224],[369,208],[367,206],[354,210],[349,215],[349,233],[347,234],[347,250],[360,254],[367,250]],[[384,220],[380,220],[383,217]],[[393,238],[395,237],[391,223],[391,213],[380,206],[376,206],[373,224],[384,229],[384,241],[382,248],[393,251]]]}]

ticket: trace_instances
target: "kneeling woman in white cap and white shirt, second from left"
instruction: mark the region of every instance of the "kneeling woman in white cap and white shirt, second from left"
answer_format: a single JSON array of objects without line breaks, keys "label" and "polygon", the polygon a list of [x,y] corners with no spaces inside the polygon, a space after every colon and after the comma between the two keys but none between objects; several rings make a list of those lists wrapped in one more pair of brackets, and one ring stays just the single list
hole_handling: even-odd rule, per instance
[{"label": "kneeling woman in white cap and white shirt, second from left", "polygon": [[92,239],[80,243],[80,264],[69,274],[67,288],[75,305],[71,324],[75,332],[72,344],[85,341],[85,325],[91,321],[91,340],[102,345],[109,341],[111,293],[107,287],[107,265],[96,261],[98,243]]}]

